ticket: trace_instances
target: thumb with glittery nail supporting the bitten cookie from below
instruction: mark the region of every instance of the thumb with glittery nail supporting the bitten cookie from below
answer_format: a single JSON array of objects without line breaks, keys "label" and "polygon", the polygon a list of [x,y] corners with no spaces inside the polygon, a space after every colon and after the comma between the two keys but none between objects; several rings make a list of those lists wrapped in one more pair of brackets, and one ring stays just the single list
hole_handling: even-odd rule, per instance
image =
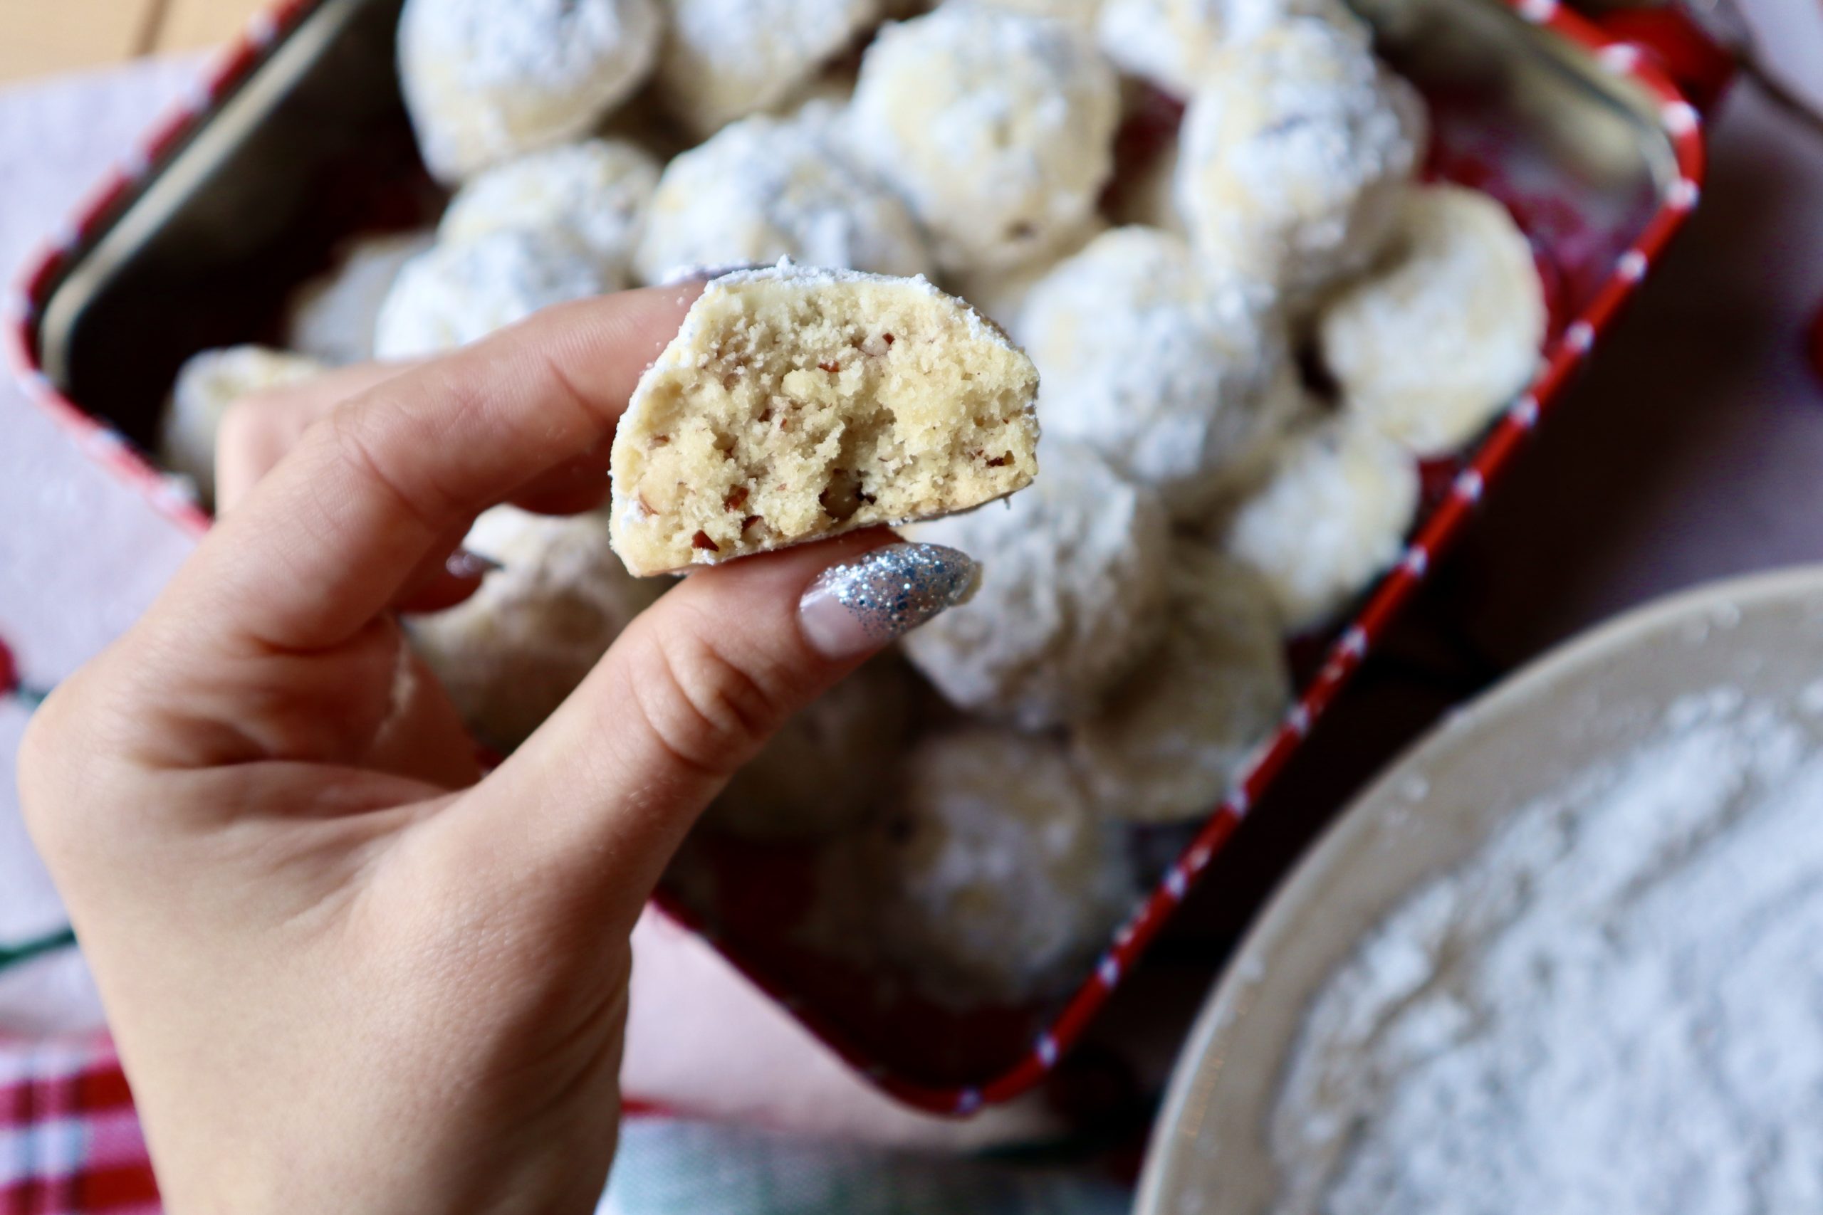
[{"label": "thumb with glittery nail supporting the bitten cookie from below", "polygon": [[964,554],[881,528],[691,574],[439,827],[631,927],[727,778],[975,576]]}]

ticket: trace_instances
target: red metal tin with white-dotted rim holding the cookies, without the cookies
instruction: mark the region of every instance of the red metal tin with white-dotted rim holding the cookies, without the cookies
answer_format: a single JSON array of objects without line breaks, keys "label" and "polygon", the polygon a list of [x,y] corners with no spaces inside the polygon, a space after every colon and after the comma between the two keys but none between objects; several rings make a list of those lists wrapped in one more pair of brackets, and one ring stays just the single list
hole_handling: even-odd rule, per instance
[{"label": "red metal tin with white-dotted rim holding the cookies, without the cookies", "polygon": [[[1695,107],[1653,56],[1559,0],[1358,7],[1378,49],[1431,104],[1429,171],[1500,197],[1533,240],[1553,297],[1539,373],[1469,452],[1427,466],[1431,492],[1404,559],[1322,641],[1298,703],[1245,780],[1200,829],[1165,836],[1170,860],[1150,896],[1068,1000],[970,1016],[910,1004],[882,1013],[857,998],[853,976],[789,944],[780,900],[718,916],[709,936],[736,967],[908,1104],[970,1113],[1050,1071],[1462,534],[1697,202]],[[270,337],[290,286],[343,235],[434,215],[439,195],[417,162],[392,66],[397,9],[399,0],[288,0],[257,18],[20,286],[5,328],[33,399],[193,530],[208,519],[142,454],[180,361]],[[800,862],[747,853],[731,889],[746,898],[789,887]],[[696,922],[676,900],[660,902]]]}]

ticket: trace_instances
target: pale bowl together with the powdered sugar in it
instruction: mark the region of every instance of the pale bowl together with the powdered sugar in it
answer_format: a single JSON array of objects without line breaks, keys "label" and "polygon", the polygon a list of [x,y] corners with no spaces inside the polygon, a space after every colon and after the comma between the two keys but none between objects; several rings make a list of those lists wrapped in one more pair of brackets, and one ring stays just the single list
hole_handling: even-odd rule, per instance
[{"label": "pale bowl together with the powdered sugar in it", "polygon": [[1409,752],[1198,1022],[1190,1211],[1816,1210],[1823,570],[1674,597]]}]

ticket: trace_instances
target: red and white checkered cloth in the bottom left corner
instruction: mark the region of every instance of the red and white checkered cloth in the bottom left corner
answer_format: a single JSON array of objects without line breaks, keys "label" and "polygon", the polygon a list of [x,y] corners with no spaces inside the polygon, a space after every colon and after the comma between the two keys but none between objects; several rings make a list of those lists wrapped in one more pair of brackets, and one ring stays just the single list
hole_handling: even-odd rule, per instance
[{"label": "red and white checkered cloth in the bottom left corner", "polygon": [[159,1188],[113,1044],[0,1036],[0,1215],[153,1215]]}]

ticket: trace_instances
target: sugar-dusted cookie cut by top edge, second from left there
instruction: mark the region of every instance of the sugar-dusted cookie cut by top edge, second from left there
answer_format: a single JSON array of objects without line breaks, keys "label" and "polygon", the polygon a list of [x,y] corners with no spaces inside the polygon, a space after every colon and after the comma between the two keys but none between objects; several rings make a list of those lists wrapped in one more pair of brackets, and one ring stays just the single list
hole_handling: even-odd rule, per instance
[{"label": "sugar-dusted cookie cut by top edge, second from left there", "polygon": [[786,100],[881,20],[881,0],[665,0],[658,93],[698,137]]}]

